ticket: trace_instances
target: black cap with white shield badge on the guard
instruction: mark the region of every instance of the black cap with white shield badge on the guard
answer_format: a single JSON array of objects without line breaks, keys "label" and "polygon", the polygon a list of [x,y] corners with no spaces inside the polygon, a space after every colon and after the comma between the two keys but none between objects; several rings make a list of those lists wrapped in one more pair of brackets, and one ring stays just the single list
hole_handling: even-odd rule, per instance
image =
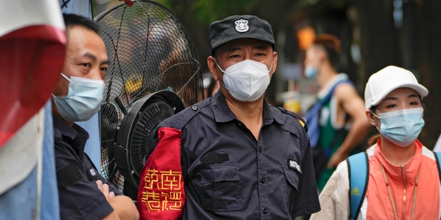
[{"label": "black cap with white shield badge on the guard", "polygon": [[214,21],[208,28],[208,39],[212,52],[223,43],[245,38],[266,41],[274,47],[271,25],[254,15],[230,16],[222,21]]}]

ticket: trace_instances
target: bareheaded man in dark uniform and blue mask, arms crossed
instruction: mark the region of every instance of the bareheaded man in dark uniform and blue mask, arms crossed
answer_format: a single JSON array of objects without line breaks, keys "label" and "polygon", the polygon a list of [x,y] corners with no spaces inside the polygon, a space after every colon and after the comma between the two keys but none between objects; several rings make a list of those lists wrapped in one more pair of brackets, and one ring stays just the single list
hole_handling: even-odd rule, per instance
[{"label": "bareheaded man in dark uniform and blue mask, arms crossed", "polygon": [[83,152],[89,135],[74,124],[90,119],[103,100],[109,63],[99,28],[75,14],[63,17],[68,43],[52,93],[61,219],[138,219],[132,199],[99,175]]}]

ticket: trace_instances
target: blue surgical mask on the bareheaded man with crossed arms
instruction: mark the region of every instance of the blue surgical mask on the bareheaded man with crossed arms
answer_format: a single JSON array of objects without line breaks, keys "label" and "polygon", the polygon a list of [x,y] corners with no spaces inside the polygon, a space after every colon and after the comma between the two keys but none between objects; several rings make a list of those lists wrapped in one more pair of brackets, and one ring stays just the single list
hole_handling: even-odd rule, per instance
[{"label": "blue surgical mask on the bareheaded man with crossed arms", "polygon": [[104,82],[103,80],[93,80],[70,76],[68,78],[68,95],[59,97],[52,94],[55,106],[61,117],[68,122],[85,121],[99,111],[103,101]]}]

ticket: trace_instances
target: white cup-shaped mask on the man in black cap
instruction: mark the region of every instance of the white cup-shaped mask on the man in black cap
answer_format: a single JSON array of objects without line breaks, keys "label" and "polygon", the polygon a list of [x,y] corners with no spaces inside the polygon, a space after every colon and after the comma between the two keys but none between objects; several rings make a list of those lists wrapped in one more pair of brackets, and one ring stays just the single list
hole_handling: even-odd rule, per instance
[{"label": "white cup-shaped mask on the man in black cap", "polygon": [[[216,65],[219,67],[217,61]],[[241,101],[254,101],[265,93],[269,85],[267,65],[252,60],[245,60],[223,70],[224,87],[232,96]]]}]

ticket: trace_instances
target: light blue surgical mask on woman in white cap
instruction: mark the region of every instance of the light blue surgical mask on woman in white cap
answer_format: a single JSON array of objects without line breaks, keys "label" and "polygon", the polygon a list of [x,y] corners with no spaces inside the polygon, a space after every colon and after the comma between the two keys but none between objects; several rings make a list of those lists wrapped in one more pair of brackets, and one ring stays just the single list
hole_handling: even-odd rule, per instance
[{"label": "light blue surgical mask on woman in white cap", "polygon": [[418,138],[424,126],[422,112],[422,108],[415,108],[380,113],[376,115],[381,122],[380,133],[393,144],[409,146]]}]

